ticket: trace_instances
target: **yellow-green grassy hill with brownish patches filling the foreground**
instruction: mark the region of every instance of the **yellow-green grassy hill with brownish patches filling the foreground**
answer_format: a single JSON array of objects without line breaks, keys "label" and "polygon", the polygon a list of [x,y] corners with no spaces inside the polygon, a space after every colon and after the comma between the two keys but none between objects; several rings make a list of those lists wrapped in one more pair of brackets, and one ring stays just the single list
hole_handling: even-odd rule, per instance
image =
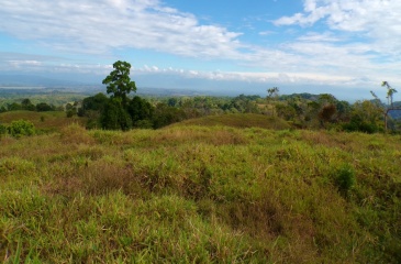
[{"label": "yellow-green grassy hill with brownish patches filling the foreground", "polygon": [[401,261],[399,135],[232,128],[238,119],[2,138],[0,257]]}]

